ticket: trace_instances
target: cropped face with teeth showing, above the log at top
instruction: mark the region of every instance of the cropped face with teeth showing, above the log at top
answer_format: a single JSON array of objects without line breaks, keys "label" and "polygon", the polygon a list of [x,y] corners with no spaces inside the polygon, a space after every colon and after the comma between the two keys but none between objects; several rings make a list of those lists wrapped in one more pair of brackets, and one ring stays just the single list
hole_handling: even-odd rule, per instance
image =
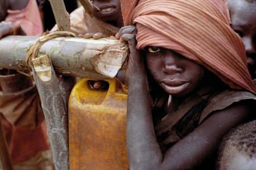
[{"label": "cropped face with teeth showing, above the log at top", "polygon": [[121,16],[120,0],[93,0],[93,5],[100,8],[100,11],[94,8],[93,15],[104,22],[117,20]]}]

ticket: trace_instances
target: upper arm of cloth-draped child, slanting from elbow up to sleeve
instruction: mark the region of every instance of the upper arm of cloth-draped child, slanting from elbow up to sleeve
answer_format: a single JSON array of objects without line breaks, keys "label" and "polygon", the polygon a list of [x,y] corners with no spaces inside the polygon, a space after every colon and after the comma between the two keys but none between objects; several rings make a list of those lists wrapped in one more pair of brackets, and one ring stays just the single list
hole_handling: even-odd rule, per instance
[{"label": "upper arm of cloth-draped child, slanting from elbow up to sleeve", "polygon": [[[250,102],[241,101],[213,113],[191,134],[166,151],[161,167],[163,169],[196,167],[217,150],[222,137],[230,129],[248,120],[252,110]],[[172,165],[175,167],[172,168]]]}]

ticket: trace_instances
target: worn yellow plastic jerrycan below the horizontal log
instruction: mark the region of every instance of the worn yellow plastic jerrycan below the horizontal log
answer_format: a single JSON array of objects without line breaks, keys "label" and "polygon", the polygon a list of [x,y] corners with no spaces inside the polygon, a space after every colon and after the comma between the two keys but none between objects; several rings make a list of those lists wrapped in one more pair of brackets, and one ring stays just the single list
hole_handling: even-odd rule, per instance
[{"label": "worn yellow plastic jerrycan below the horizontal log", "polygon": [[69,97],[70,169],[129,169],[126,153],[127,95],[118,79],[95,90],[82,78]]}]

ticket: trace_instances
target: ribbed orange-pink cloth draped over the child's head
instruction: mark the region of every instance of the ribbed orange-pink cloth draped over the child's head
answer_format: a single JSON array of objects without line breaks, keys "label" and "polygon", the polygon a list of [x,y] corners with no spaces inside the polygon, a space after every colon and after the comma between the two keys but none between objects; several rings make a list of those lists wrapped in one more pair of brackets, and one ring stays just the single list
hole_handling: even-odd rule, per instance
[{"label": "ribbed orange-pink cloth draped over the child's head", "polygon": [[225,0],[121,0],[137,49],[160,46],[203,65],[236,90],[256,94],[245,46],[230,27]]}]

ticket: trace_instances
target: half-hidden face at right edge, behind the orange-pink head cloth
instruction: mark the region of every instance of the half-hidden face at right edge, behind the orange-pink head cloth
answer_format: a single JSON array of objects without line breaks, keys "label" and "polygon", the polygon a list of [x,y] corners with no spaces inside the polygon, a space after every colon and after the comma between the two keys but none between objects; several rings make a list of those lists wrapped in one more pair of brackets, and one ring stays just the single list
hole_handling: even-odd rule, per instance
[{"label": "half-hidden face at right edge, behind the orange-pink head cloth", "polygon": [[250,74],[256,78],[256,3],[228,0],[232,28],[242,38]]}]

